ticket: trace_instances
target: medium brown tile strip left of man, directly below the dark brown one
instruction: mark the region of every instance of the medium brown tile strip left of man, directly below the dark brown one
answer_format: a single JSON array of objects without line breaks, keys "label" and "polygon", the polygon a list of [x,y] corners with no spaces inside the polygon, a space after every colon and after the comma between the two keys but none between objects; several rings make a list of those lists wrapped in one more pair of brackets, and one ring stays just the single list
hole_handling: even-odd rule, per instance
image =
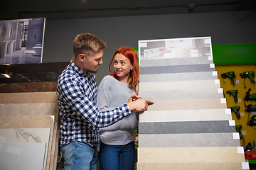
[{"label": "medium brown tile strip left of man, directly below the dark brown one", "polygon": [[58,103],[58,98],[56,91],[33,93],[2,93],[0,94],[0,103]]}]

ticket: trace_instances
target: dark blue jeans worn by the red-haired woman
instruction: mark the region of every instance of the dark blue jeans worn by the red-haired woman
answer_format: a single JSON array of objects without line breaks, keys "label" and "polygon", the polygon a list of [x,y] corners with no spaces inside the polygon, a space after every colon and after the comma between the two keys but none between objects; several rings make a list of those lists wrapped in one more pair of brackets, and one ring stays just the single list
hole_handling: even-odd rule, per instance
[{"label": "dark blue jeans worn by the red-haired woman", "polygon": [[100,142],[100,170],[134,170],[135,145],[107,145]]}]

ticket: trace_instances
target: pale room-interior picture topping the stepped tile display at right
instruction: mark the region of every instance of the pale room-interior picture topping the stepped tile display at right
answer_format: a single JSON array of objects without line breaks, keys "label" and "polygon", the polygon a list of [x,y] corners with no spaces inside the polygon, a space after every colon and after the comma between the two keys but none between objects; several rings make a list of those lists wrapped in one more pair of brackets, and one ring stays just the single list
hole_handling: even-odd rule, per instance
[{"label": "pale room-interior picture topping the stepped tile display at right", "polygon": [[139,40],[139,66],[142,60],[183,57],[209,57],[213,60],[210,37]]}]

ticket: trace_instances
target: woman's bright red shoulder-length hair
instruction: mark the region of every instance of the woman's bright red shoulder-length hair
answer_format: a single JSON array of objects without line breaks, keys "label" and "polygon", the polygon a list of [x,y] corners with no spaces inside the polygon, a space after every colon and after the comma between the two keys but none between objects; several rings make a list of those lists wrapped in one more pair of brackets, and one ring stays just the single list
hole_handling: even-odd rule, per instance
[{"label": "woman's bright red shoulder-length hair", "polygon": [[[138,65],[137,52],[135,50],[133,50],[132,48],[130,48],[130,47],[119,47],[119,49],[117,49],[117,51],[114,52],[114,56],[117,55],[117,54],[124,55],[131,62],[133,68],[132,68],[132,70],[129,74],[129,77],[131,77],[131,80],[129,81],[129,86],[133,86],[137,82],[137,79],[139,77],[139,65]],[[109,74],[110,74],[110,76],[117,79],[117,73],[112,72],[111,69],[110,69],[110,67],[112,65],[112,62],[114,60],[114,56],[112,57],[112,60],[111,60],[110,65],[109,65],[109,70],[110,70]]]}]

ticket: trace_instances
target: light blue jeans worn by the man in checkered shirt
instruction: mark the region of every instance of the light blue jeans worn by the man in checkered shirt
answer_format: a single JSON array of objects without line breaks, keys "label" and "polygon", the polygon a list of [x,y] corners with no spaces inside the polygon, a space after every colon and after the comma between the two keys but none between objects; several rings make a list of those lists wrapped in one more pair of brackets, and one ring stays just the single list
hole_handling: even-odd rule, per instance
[{"label": "light blue jeans worn by the man in checkered shirt", "polygon": [[70,142],[60,148],[65,170],[97,170],[97,147],[83,142]]}]

